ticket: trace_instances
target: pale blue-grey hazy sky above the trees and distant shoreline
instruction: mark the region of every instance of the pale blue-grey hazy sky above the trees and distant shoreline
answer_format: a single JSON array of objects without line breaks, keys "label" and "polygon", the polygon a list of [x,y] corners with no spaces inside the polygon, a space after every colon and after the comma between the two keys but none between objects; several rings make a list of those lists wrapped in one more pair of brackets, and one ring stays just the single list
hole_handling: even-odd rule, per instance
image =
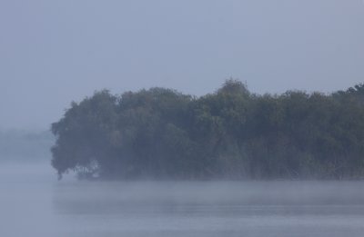
[{"label": "pale blue-grey hazy sky above the trees and distant shoreline", "polygon": [[0,128],[48,128],[102,88],[228,77],[259,94],[364,81],[363,1],[0,1]]}]

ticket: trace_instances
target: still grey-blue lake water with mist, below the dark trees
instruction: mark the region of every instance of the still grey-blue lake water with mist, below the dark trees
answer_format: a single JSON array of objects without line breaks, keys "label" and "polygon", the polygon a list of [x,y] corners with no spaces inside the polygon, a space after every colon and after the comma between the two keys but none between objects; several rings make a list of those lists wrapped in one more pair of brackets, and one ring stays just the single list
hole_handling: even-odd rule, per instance
[{"label": "still grey-blue lake water with mist, below the dark trees", "polygon": [[0,236],[364,236],[364,182],[56,181],[0,163]]}]

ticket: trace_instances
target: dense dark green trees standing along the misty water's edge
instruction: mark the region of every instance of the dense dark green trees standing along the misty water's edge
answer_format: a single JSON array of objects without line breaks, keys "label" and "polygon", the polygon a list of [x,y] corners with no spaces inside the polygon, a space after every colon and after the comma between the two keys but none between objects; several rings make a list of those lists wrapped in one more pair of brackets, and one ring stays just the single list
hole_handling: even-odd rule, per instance
[{"label": "dense dark green trees standing along the misty water's edge", "polygon": [[52,132],[60,177],[357,179],[364,176],[364,85],[259,95],[227,80],[201,97],[104,90],[72,103]]}]

